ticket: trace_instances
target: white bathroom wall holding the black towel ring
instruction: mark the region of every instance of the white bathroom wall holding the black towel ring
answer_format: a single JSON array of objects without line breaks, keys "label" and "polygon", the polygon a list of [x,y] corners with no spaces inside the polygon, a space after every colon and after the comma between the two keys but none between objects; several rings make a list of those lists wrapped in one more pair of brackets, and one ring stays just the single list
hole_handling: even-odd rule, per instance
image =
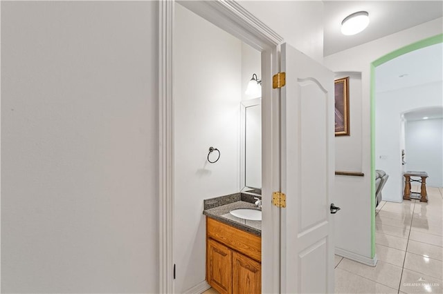
[{"label": "white bathroom wall holding the black towel ring", "polygon": [[[242,42],[180,5],[175,29],[174,287],[183,293],[205,280],[204,199],[239,192]],[[215,164],[210,146],[221,152]]]}]

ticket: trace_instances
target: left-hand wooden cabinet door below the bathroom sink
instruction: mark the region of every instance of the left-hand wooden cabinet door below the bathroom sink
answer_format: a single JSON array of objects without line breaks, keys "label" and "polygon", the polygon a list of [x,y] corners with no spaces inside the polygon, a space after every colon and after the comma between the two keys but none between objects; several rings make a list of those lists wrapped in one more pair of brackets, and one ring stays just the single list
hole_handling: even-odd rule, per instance
[{"label": "left-hand wooden cabinet door below the bathroom sink", "polygon": [[221,294],[232,293],[232,251],[219,242],[208,239],[207,254],[208,284]]}]

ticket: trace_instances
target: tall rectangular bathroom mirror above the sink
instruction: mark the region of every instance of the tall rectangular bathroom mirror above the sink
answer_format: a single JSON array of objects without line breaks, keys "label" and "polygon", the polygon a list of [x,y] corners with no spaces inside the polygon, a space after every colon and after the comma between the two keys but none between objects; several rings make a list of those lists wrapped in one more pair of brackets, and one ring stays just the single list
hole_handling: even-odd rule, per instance
[{"label": "tall rectangular bathroom mirror above the sink", "polygon": [[262,101],[242,101],[240,133],[240,188],[262,194]]}]

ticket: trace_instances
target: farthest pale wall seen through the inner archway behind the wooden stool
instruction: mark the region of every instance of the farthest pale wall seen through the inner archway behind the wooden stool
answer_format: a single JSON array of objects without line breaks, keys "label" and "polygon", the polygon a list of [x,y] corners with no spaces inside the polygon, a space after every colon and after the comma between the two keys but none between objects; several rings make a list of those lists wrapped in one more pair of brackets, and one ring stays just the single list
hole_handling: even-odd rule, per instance
[{"label": "farthest pale wall seen through the inner archway behind the wooden stool", "polygon": [[405,140],[408,170],[426,171],[427,186],[443,187],[443,119],[406,121]]}]

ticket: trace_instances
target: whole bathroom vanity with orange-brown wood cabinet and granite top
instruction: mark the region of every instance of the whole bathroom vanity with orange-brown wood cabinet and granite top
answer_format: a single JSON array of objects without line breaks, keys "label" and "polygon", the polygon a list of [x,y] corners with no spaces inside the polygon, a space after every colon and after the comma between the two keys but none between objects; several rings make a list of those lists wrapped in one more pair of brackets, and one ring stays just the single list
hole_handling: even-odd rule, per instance
[{"label": "whole bathroom vanity with orange-brown wood cabinet and granite top", "polygon": [[206,281],[219,293],[261,293],[261,220],[230,213],[258,210],[256,201],[244,193],[205,200]]}]

